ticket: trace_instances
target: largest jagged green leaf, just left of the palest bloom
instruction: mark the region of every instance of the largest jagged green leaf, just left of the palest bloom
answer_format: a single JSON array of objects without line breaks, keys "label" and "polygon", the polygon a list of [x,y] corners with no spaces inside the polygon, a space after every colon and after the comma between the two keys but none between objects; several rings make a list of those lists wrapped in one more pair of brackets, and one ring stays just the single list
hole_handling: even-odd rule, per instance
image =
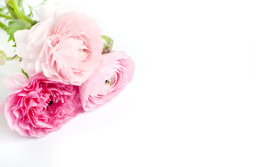
[{"label": "largest jagged green leaf, just left of the palest bloom", "polygon": [[30,27],[25,23],[23,22],[22,20],[20,19],[15,19],[13,21],[10,21],[8,23],[8,26],[6,27],[6,32],[8,35],[10,35],[9,39],[8,39],[8,42],[10,40],[13,40],[13,42],[15,42],[15,39],[14,39],[14,33],[18,30],[24,30],[24,29],[29,29]]}]

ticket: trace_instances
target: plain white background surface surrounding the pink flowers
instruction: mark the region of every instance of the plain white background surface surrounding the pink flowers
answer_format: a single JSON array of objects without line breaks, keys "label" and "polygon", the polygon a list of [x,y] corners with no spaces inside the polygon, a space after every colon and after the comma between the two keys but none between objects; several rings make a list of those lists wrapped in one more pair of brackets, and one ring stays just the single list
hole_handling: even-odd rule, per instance
[{"label": "plain white background surface surrounding the pink flowers", "polygon": [[[255,1],[61,3],[132,56],[134,79],[45,138],[21,137],[0,116],[0,166],[256,166]],[[1,100],[13,64],[0,67]]]}]

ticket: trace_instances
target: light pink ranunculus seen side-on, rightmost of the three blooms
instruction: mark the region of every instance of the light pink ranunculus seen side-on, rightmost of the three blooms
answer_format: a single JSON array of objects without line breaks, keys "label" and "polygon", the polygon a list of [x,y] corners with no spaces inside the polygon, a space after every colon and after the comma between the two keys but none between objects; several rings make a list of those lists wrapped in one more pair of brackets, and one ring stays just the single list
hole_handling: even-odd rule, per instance
[{"label": "light pink ranunculus seen side-on, rightmost of the three blooms", "polygon": [[133,79],[135,63],[123,51],[103,54],[96,72],[80,86],[84,111],[97,109],[119,95]]}]

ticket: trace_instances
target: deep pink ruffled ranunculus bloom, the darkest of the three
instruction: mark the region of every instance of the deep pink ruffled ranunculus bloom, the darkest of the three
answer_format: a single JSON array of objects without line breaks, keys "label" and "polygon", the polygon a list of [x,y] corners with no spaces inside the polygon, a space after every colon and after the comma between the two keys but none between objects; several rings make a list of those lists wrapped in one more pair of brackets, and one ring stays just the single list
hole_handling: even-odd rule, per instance
[{"label": "deep pink ruffled ranunculus bloom, the darkest of the three", "polygon": [[6,98],[4,115],[10,128],[22,136],[46,136],[83,111],[77,86],[50,81],[40,74],[29,80],[20,73],[13,77],[4,80],[13,91]]}]

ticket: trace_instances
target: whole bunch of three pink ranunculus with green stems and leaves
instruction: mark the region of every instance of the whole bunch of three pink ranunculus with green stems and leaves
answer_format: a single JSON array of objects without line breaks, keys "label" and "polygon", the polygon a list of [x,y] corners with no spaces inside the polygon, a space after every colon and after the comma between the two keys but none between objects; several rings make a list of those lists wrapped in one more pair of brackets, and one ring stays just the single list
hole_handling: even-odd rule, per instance
[{"label": "whole bunch of three pink ranunculus with green stems and leaves", "polygon": [[11,129],[38,138],[110,102],[133,78],[135,63],[112,51],[113,40],[83,11],[43,1],[38,20],[35,13],[22,0],[0,8],[0,27],[16,54],[0,51],[0,65],[19,59],[21,68],[3,80],[12,93],[0,112]]}]

